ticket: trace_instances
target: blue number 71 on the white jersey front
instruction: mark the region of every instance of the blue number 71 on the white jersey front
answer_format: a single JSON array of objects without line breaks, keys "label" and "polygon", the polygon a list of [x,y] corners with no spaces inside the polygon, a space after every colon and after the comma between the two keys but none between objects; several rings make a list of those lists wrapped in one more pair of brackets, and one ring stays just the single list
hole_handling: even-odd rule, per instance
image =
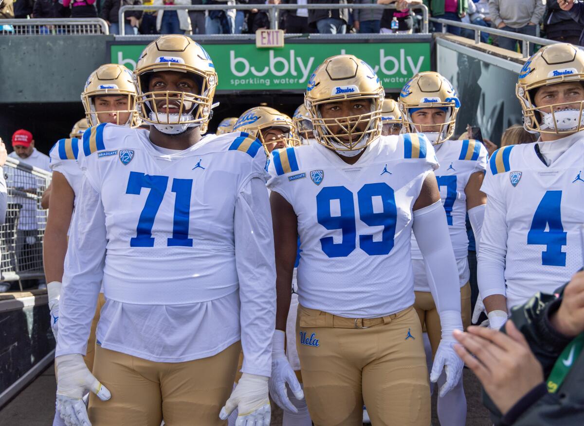
[{"label": "blue number 71 on the white jersey front", "polygon": [[[158,209],[164,198],[168,176],[147,175],[130,172],[127,194],[140,195],[142,188],[150,189],[138,226],[136,236],[130,238],[130,247],[154,247],[152,226]],[[193,239],[189,238],[190,193],[193,189],[193,179],[172,179],[172,192],[175,196],[175,213],[173,217],[172,238],[166,238],[167,247],[193,247]]]}]

